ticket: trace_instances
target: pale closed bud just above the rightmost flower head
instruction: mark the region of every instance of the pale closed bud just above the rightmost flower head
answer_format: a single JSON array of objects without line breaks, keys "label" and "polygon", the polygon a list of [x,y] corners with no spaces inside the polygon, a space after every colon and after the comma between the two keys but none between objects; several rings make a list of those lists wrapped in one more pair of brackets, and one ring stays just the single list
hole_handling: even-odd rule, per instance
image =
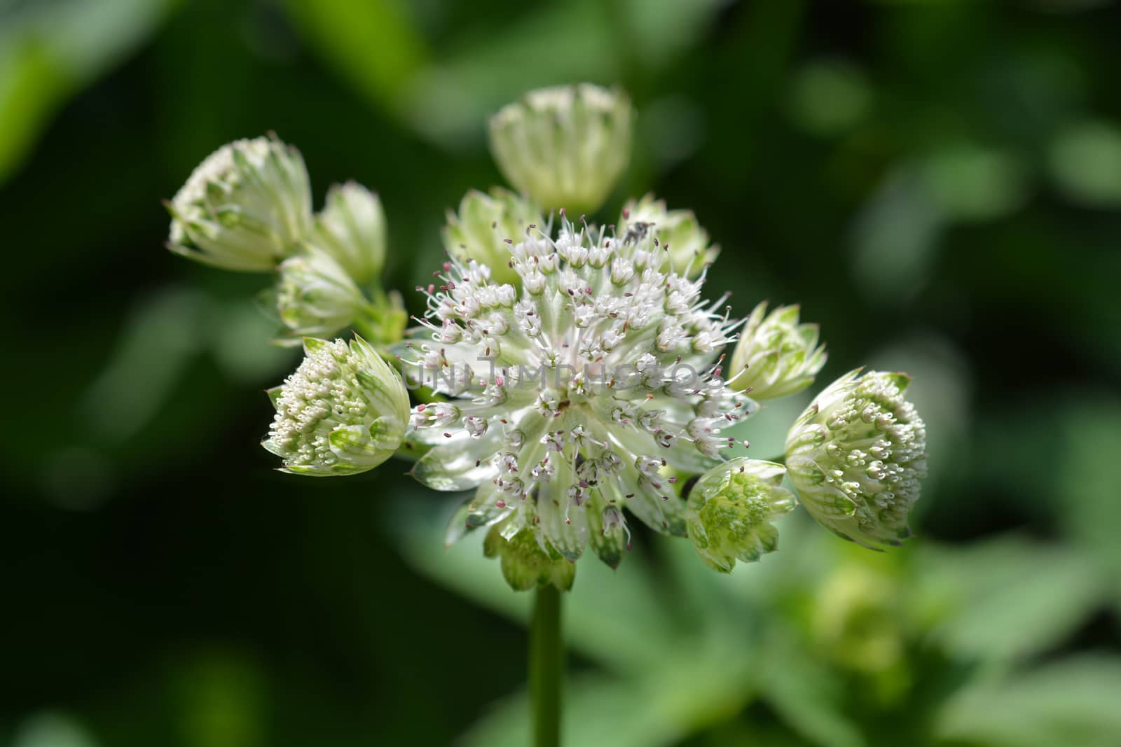
[{"label": "pale closed bud just above the rightmost flower head", "polygon": [[773,400],[809,386],[825,365],[825,346],[817,344],[817,325],[798,324],[798,306],[767,314],[754,308],[732,352],[729,386],[756,401]]}]

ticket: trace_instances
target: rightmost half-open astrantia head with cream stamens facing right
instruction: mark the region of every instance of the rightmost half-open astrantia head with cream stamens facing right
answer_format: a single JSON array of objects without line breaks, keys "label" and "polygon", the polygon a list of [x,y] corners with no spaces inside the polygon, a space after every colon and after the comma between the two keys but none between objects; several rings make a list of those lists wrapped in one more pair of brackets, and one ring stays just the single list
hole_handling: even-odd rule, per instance
[{"label": "rightmost half-open astrantia head with cream stamens facing right", "polygon": [[909,383],[906,374],[851,371],[817,395],[786,439],[802,504],[867,547],[910,536],[907,513],[926,477],[926,426],[904,399]]}]

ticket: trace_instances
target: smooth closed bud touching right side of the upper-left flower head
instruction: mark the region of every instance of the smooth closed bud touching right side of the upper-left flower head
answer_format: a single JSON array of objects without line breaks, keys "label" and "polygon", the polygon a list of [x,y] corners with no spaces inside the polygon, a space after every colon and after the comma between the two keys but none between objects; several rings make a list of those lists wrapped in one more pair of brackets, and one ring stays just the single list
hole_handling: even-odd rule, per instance
[{"label": "smooth closed bud touching right side of the upper-left flower head", "polygon": [[369,283],[386,264],[386,214],[378,195],[355,181],[333,185],[315,216],[311,241],[335,258],[354,282]]}]

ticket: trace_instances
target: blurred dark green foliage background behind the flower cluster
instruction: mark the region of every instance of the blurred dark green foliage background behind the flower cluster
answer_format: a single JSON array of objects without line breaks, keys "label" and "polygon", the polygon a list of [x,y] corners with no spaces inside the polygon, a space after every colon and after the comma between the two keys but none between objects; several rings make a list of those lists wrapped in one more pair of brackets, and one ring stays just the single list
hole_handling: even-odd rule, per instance
[{"label": "blurred dark green foliage background behind the flower cluster", "polygon": [[580,80],[640,112],[605,215],[695,209],[711,297],[822,324],[818,386],[912,373],[932,468],[900,551],[799,513],[730,577],[646,534],[581,562],[568,744],[1121,745],[1119,29],[1092,0],[0,0],[0,745],[527,744],[528,595],[444,551],[452,502],[399,464],[271,469],[268,279],[166,252],[159,200],[276,130],[317,203],[380,192],[408,289],[500,183],[488,113]]}]

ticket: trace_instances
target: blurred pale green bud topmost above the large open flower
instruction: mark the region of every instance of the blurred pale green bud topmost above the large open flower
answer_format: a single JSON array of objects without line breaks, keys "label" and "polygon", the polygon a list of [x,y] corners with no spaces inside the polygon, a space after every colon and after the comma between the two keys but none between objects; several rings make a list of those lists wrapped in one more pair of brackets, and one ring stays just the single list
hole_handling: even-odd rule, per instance
[{"label": "blurred pale green bud topmost above the large open flower", "polygon": [[621,91],[538,88],[491,118],[491,152],[510,184],[546,211],[592,213],[627,168],[632,121]]}]

